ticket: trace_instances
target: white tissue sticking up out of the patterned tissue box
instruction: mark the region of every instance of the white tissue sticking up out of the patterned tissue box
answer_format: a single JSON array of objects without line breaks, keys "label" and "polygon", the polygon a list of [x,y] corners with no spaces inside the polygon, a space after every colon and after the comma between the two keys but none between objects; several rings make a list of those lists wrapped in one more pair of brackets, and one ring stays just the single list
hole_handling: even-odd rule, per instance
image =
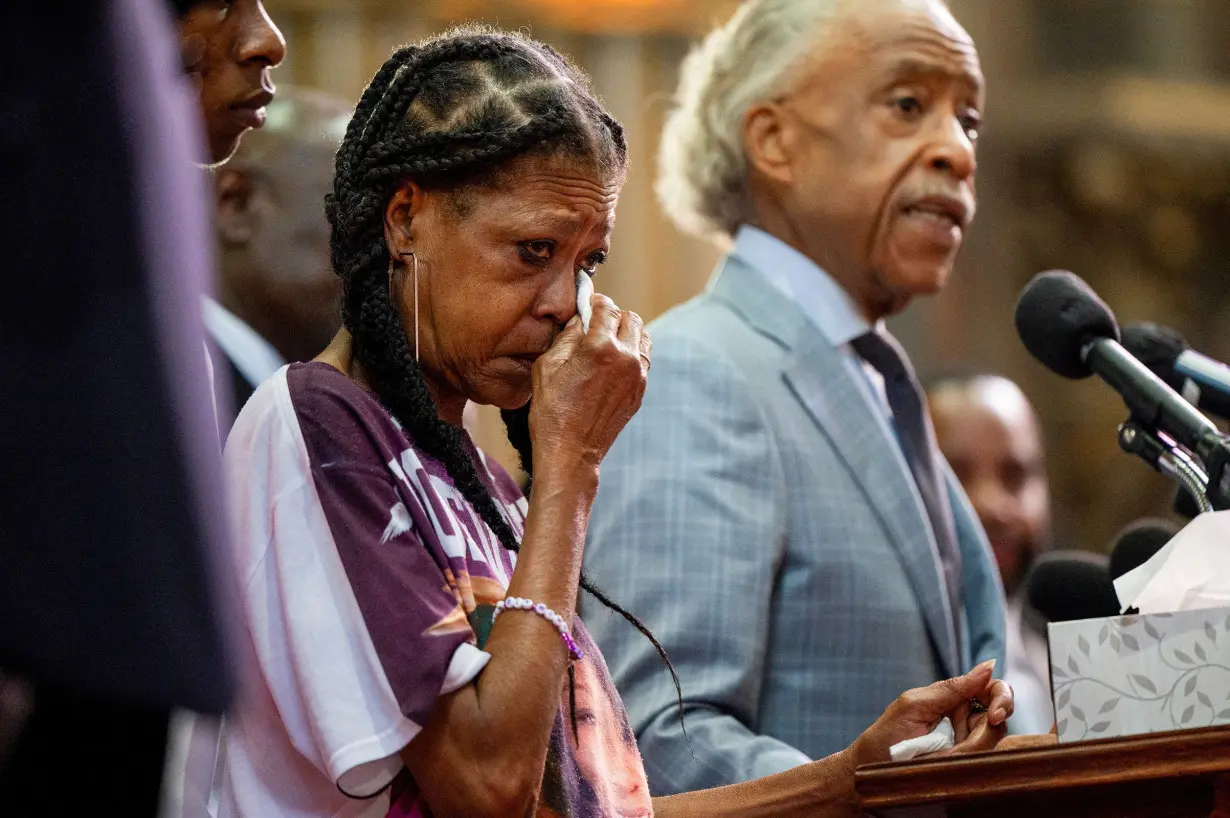
[{"label": "white tissue sticking up out of the patterned tissue box", "polygon": [[1114,581],[1124,606],[1168,614],[1230,605],[1230,510],[1205,512],[1143,566]]}]

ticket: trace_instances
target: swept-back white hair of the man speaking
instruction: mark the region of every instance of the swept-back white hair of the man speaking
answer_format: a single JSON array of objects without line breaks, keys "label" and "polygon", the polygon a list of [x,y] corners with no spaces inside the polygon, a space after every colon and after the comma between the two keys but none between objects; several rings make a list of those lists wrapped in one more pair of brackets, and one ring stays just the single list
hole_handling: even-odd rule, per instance
[{"label": "swept-back white hair of the man speaking", "polygon": [[733,236],[749,216],[743,118],[785,90],[843,0],[749,0],[680,66],[658,150],[658,201],[686,232]]}]

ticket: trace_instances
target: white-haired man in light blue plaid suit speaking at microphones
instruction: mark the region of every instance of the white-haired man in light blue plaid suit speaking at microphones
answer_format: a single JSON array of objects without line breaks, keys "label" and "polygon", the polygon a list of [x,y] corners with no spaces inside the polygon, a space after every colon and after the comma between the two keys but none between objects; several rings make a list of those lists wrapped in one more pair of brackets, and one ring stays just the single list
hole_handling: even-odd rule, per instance
[{"label": "white-haired man in light blue plaid suit speaking at microphones", "polygon": [[589,616],[667,795],[839,750],[902,690],[1002,661],[986,539],[883,320],[974,213],[978,54],[941,0],[753,0],[683,66],[659,196],[733,250],[654,322],[585,570],[683,683]]}]

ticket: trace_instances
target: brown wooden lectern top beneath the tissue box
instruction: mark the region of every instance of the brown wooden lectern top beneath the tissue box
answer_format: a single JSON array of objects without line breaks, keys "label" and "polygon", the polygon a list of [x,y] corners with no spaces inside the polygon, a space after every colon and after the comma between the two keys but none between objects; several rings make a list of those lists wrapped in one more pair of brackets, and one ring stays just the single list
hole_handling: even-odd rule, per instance
[{"label": "brown wooden lectern top beneath the tissue box", "polygon": [[872,764],[855,781],[879,818],[1230,818],[1230,727]]}]

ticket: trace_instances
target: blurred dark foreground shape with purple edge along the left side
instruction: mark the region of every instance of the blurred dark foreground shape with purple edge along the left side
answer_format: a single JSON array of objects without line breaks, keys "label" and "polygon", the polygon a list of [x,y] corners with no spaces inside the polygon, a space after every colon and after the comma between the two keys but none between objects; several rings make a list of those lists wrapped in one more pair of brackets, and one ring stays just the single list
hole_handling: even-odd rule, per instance
[{"label": "blurred dark foreground shape with purple edge along the left side", "polygon": [[155,814],[169,711],[230,697],[177,59],[162,0],[0,4],[6,817]]}]

